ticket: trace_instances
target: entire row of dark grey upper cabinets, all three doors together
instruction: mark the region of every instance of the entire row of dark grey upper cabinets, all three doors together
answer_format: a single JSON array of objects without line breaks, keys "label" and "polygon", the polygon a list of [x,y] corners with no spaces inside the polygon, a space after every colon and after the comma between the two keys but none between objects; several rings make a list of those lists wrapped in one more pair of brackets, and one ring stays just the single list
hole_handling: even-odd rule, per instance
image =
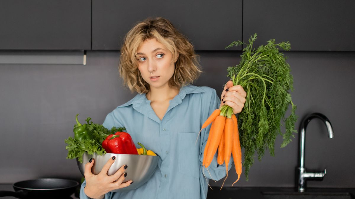
[{"label": "entire row of dark grey upper cabinets, all three doors together", "polygon": [[289,41],[291,51],[355,51],[354,0],[1,0],[0,50],[120,50],[147,17],[164,17],[195,50]]}]

